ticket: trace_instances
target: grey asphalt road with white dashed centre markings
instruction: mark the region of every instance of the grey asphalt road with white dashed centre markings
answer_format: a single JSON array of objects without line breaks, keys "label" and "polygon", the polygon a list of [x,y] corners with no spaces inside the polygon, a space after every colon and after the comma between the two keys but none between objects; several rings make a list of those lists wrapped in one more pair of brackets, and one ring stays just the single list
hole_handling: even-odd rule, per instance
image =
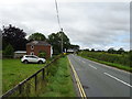
[{"label": "grey asphalt road with white dashed centre markings", "polygon": [[130,97],[130,73],[68,55],[87,97]]}]

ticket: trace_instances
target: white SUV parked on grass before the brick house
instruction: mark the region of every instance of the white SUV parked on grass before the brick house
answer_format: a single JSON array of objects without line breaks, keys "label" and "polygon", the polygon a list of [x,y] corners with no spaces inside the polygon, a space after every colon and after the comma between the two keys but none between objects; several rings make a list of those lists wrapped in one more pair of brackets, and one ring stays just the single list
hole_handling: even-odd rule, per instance
[{"label": "white SUV parked on grass before the brick house", "polygon": [[28,64],[28,63],[44,64],[46,61],[45,61],[45,58],[40,58],[40,57],[37,57],[35,55],[24,55],[21,58],[21,62],[24,63],[24,64]]}]

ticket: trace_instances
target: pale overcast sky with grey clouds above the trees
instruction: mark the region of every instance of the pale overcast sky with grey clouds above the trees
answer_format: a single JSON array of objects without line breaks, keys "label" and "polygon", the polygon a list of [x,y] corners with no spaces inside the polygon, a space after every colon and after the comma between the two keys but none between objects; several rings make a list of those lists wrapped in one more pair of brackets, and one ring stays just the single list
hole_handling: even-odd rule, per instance
[{"label": "pale overcast sky with grey clouds above the trees", "polygon": [[[61,25],[80,48],[130,47],[130,3],[57,0]],[[0,0],[0,28],[15,25],[28,35],[59,31],[54,0]]]}]

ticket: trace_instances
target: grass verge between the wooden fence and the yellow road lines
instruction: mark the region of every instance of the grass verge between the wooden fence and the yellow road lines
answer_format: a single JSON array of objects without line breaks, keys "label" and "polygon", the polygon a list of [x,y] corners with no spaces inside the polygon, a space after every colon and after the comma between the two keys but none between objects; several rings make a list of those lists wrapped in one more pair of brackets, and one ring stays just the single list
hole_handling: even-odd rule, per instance
[{"label": "grass verge between the wooden fence and the yellow road lines", "polygon": [[63,57],[54,65],[57,68],[55,75],[48,78],[47,86],[38,97],[75,97],[75,90],[70,76],[70,68],[67,57]]}]

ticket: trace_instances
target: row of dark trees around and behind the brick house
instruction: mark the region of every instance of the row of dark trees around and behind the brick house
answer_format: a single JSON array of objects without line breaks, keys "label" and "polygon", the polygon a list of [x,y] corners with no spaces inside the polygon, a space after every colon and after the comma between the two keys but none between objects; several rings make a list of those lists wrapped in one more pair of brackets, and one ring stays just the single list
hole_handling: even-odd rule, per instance
[{"label": "row of dark trees around and behind the brick house", "polygon": [[[3,26],[2,30],[2,51],[3,54],[11,55],[14,51],[25,51],[26,43],[31,41],[45,41],[53,46],[53,53],[62,53],[62,37],[63,37],[63,52],[68,48],[79,50],[79,45],[70,44],[70,40],[64,32],[51,33],[47,37],[44,33],[33,33],[28,38],[25,38],[26,33],[16,26],[9,24],[9,26]],[[12,53],[13,54],[13,53]]]}]

